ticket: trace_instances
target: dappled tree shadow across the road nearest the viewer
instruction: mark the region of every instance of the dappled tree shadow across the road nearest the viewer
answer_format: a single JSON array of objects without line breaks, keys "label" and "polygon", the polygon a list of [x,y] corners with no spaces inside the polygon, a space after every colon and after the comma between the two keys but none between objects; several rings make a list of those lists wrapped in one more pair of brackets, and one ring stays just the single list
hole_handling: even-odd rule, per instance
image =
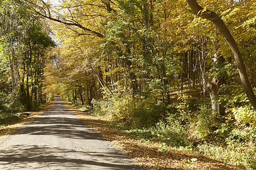
[{"label": "dappled tree shadow across the road nearest the viewer", "polygon": [[[8,150],[0,150],[0,165],[6,165],[9,167],[11,160],[10,169],[20,169],[29,168],[26,163],[34,164],[37,168],[56,168],[61,164],[61,168],[85,168],[90,167],[90,165],[96,165],[97,169],[133,169],[134,165],[123,165],[117,162],[104,163],[99,162],[97,159],[83,160],[79,158],[68,158],[69,153],[77,152],[75,150],[63,150],[58,147],[48,147],[48,146],[27,146],[27,145],[16,145],[13,148],[8,148]],[[81,157],[91,156],[91,158],[114,158],[116,160],[125,159],[125,156],[116,154],[115,152],[105,152],[104,154],[97,154],[95,152],[82,151]],[[63,156],[61,156],[63,155]],[[90,168],[89,168],[90,169]]]}]

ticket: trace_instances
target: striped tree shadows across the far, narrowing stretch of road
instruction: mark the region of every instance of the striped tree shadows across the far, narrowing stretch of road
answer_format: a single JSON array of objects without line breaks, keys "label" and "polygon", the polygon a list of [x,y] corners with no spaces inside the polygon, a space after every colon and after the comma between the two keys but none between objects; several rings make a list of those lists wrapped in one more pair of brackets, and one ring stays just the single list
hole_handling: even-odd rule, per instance
[{"label": "striped tree shadows across the far, narrowing stretch of road", "polygon": [[65,104],[56,99],[56,104],[42,116],[35,118],[15,134],[55,135],[63,138],[105,140],[89,126],[77,119]]}]

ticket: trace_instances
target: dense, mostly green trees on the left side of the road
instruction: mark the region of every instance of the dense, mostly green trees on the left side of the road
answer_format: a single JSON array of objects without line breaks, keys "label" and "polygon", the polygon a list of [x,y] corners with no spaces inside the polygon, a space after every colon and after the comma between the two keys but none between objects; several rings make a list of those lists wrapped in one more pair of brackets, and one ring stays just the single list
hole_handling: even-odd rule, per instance
[{"label": "dense, mostly green trees on the left side of the road", "polygon": [[31,111],[47,100],[43,76],[46,51],[55,44],[44,24],[25,7],[1,1],[1,115]]}]

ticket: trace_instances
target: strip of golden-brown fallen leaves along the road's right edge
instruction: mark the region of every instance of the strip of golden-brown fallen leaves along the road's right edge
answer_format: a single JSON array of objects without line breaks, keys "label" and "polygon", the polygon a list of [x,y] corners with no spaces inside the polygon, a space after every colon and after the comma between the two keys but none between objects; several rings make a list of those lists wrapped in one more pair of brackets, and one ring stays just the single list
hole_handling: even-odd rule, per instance
[{"label": "strip of golden-brown fallen leaves along the road's right edge", "polygon": [[90,116],[70,104],[66,103],[66,105],[86,125],[108,139],[112,145],[121,148],[144,169],[240,169],[234,165],[193,154],[184,148],[169,147],[163,143],[131,137],[125,130],[114,129],[112,122],[105,118]]}]

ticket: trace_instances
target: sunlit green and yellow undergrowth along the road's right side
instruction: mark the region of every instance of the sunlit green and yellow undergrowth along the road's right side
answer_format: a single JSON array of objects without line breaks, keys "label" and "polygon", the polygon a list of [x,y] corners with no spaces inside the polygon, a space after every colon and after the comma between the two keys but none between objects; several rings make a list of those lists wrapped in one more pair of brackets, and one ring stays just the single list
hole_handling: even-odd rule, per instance
[{"label": "sunlit green and yellow undergrowth along the road's right side", "polygon": [[209,99],[197,101],[182,95],[176,104],[166,106],[154,97],[131,100],[115,96],[93,100],[89,113],[109,118],[116,131],[131,138],[162,143],[160,152],[183,147],[188,152],[255,169],[256,114],[250,107],[242,109],[242,101],[237,102],[240,107],[232,105],[224,115],[213,117]]}]

